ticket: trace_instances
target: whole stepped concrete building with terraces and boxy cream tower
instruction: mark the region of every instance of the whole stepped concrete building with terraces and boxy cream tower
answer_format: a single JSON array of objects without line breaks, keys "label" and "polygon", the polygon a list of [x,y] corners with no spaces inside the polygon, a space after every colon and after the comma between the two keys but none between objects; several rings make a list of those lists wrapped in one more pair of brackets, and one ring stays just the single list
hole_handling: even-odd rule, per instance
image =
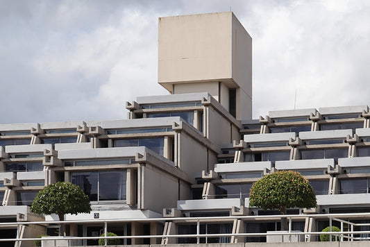
[{"label": "whole stepped concrete building with terraces and boxy cream tower", "polygon": [[[253,182],[277,170],[299,171],[317,194],[317,208],[289,210],[301,216],[292,220],[292,230],[318,232],[329,225],[315,214],[370,212],[367,105],[281,110],[252,119],[252,39],[233,12],[158,22],[158,83],[168,95],[126,102],[128,119],[0,125],[1,222],[47,222],[1,226],[0,239],[58,235],[57,216],[29,210],[37,191],[57,181],[72,182],[90,197],[90,214],[65,216],[76,221],[67,223],[67,235],[76,237],[98,237],[101,221],[115,219],[127,220],[108,225],[120,236],[279,230],[278,217],[245,217],[278,214],[250,208],[248,200]],[[364,215],[346,219],[369,223]],[[240,243],[267,237],[120,241]]]}]

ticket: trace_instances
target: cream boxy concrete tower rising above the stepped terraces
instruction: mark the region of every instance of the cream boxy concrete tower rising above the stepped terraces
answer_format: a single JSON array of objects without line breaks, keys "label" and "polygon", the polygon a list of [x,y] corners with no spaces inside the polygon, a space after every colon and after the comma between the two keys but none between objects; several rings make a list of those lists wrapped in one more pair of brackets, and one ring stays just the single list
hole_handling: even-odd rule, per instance
[{"label": "cream boxy concrete tower rising above the stepped terraces", "polygon": [[158,25],[158,83],[171,94],[208,92],[251,119],[252,38],[233,12],[160,17]]}]

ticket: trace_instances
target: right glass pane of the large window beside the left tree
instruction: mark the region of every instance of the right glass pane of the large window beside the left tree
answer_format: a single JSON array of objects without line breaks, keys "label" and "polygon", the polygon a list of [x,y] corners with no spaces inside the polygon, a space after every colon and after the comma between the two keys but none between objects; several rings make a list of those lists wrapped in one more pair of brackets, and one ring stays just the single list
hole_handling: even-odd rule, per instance
[{"label": "right glass pane of the large window beside the left tree", "polygon": [[126,171],[99,172],[100,200],[126,200]]}]

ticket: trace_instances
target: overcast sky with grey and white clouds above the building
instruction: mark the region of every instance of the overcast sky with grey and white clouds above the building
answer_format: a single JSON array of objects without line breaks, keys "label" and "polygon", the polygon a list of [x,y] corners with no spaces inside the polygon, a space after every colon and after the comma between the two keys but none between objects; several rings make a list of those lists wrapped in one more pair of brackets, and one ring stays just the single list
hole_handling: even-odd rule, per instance
[{"label": "overcast sky with grey and white clouds above the building", "polygon": [[253,117],[370,104],[370,1],[0,0],[0,123],[126,118],[157,83],[158,17],[232,10],[253,38]]}]

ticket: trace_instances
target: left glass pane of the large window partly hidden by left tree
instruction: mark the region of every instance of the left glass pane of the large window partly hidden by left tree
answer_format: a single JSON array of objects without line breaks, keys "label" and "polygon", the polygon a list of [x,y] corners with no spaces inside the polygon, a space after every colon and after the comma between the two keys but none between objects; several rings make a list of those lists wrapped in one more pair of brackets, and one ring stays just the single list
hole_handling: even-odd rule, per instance
[{"label": "left glass pane of the large window partly hidden by left tree", "polygon": [[90,201],[98,200],[98,173],[96,171],[72,173],[72,183],[81,187],[83,192],[89,196]]}]

